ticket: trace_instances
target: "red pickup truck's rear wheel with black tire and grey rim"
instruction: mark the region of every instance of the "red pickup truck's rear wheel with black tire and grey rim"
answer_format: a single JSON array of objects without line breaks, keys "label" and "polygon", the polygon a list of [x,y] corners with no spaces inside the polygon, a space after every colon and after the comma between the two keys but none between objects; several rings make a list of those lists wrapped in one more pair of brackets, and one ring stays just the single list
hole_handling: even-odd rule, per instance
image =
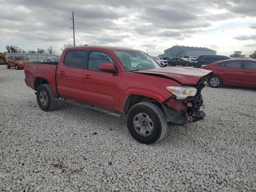
[{"label": "red pickup truck's rear wheel with black tire and grey rim", "polygon": [[[45,101],[42,102],[42,97]],[[42,84],[38,87],[36,91],[36,100],[39,107],[44,111],[52,111],[57,107],[58,102],[55,101],[57,98],[52,92],[52,88],[49,84]]]}]

